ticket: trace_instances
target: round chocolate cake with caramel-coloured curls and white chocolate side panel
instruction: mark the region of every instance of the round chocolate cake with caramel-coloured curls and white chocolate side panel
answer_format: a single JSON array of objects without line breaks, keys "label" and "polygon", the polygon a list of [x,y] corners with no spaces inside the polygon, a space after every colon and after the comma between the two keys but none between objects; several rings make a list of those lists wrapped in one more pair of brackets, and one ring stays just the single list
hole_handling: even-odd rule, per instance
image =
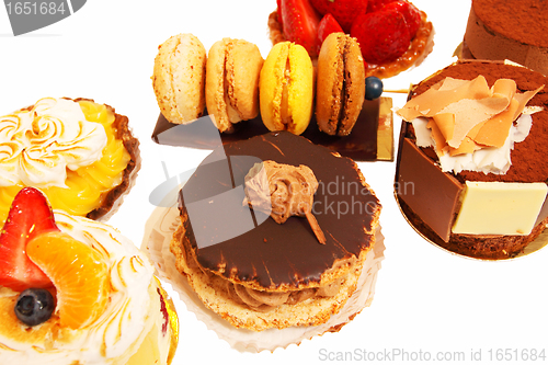
[{"label": "round chocolate cake with caramel-coloured curls and white chocolate side panel", "polygon": [[521,253],[548,224],[548,80],[502,61],[459,61],[398,111],[395,190],[431,241],[479,259]]}]

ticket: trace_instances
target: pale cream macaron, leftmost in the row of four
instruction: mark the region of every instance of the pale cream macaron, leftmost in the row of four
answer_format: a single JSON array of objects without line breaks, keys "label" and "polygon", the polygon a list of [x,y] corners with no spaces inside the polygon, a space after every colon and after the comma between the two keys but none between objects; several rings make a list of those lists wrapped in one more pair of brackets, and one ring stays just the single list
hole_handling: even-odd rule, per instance
[{"label": "pale cream macaron, leftmost in the row of four", "polygon": [[159,46],[152,87],[162,115],[186,124],[204,115],[206,50],[189,33],[170,37]]}]

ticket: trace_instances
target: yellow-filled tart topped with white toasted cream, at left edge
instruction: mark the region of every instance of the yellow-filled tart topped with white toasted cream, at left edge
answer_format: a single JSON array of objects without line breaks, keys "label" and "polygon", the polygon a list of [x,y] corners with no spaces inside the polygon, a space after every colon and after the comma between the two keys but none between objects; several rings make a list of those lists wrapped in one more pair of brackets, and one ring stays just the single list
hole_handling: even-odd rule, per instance
[{"label": "yellow-filled tart topped with white toasted cream, at left edge", "polygon": [[0,116],[0,223],[23,186],[54,208],[107,218],[135,182],[139,142],[128,118],[85,99],[44,98]]}]

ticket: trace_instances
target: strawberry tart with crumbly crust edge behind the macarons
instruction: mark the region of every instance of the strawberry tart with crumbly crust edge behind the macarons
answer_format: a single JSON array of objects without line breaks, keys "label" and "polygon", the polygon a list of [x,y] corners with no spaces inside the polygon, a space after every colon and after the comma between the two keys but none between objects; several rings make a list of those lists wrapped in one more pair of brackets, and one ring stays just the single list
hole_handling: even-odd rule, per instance
[{"label": "strawberry tart with crumbly crust edge behind the macarons", "polygon": [[312,59],[331,33],[355,37],[366,76],[388,78],[419,65],[432,50],[426,13],[407,0],[277,0],[269,18],[271,41],[302,45]]}]

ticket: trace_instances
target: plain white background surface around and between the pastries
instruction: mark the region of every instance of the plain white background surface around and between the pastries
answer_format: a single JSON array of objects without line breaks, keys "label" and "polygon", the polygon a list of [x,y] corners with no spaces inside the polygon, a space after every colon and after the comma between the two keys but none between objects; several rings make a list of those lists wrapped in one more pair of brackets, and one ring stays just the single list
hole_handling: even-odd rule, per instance
[{"label": "plain white background surface around and between the pastries", "polygon": [[[465,32],[469,0],[414,3],[434,24],[434,50],[419,68],[387,80],[387,90],[407,89],[449,65]],[[43,96],[82,96],[127,115],[140,140],[142,168],[110,224],[140,246],[155,208],[148,196],[165,180],[161,162],[174,175],[195,168],[208,153],[151,141],[159,114],[150,80],[158,45],[171,35],[193,33],[208,49],[214,42],[230,36],[255,43],[266,57],[271,48],[266,20],[275,7],[274,0],[89,0],[72,16],[18,37],[0,8],[0,114]],[[404,94],[385,95],[393,98],[395,106],[404,103]],[[396,118],[395,125],[398,136],[400,119]],[[524,349],[546,349],[548,356],[548,249],[506,262],[449,254],[419,237],[400,214],[392,193],[396,162],[359,167],[384,206],[380,221],[386,260],[373,305],[339,333],[273,353],[250,354],[218,340],[170,290],[181,324],[174,364],[327,363],[326,357],[338,352],[384,353],[393,349],[412,357],[429,352],[432,360],[438,352],[445,356],[463,352],[467,363],[472,350],[481,350],[483,362],[489,361],[490,349],[493,355],[496,349],[517,349],[518,355]],[[385,362],[404,363],[401,357]]]}]

